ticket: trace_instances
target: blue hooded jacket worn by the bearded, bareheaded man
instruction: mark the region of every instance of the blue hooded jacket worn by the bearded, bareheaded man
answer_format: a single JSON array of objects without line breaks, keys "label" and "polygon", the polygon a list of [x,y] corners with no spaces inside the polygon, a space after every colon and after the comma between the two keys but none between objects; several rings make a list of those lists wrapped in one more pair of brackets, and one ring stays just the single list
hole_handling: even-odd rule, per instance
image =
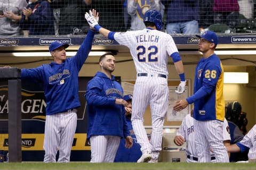
[{"label": "blue hooded jacket worn by the bearded, bareheaded man", "polygon": [[125,121],[123,105],[115,104],[116,98],[123,98],[123,88],[102,72],[97,72],[87,84],[85,92],[89,126],[87,139],[91,135],[114,135],[126,138],[129,128]]}]

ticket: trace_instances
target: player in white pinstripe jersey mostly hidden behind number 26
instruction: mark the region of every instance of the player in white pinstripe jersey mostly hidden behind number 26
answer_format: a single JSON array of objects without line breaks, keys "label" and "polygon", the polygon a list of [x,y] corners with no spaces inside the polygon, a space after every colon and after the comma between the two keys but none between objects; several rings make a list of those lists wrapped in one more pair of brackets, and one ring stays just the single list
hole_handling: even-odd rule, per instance
[{"label": "player in white pinstripe jersey mostly hidden behind number 26", "polygon": [[[194,119],[192,114],[188,114],[182,121],[179,130],[174,138],[174,143],[177,146],[182,146],[185,142],[186,155],[188,163],[197,163],[198,157],[196,152],[195,133],[194,133]],[[225,146],[230,146],[230,133],[228,122],[225,119],[223,124],[223,143]],[[211,155],[211,162],[216,162],[214,154]]]}]

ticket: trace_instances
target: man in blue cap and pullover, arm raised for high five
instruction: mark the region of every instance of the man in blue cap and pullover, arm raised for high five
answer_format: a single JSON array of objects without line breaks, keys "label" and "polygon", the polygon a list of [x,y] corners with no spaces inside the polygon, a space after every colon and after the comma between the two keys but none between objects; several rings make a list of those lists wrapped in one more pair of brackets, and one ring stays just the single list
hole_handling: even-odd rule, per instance
[{"label": "man in blue cap and pullover, arm raised for high five", "polygon": [[92,48],[94,31],[89,30],[75,56],[67,58],[68,44],[54,41],[50,47],[53,62],[34,69],[22,69],[21,80],[42,82],[46,100],[44,134],[44,162],[69,162],[76,131],[76,108],[81,106],[78,97],[78,73]]}]

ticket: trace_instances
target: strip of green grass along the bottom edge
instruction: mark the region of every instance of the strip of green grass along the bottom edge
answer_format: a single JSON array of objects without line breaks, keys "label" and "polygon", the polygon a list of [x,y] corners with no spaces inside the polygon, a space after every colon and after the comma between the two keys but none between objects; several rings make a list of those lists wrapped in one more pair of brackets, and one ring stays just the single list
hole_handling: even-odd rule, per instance
[{"label": "strip of green grass along the bottom edge", "polygon": [[0,169],[19,170],[250,170],[256,169],[256,163],[0,163]]}]

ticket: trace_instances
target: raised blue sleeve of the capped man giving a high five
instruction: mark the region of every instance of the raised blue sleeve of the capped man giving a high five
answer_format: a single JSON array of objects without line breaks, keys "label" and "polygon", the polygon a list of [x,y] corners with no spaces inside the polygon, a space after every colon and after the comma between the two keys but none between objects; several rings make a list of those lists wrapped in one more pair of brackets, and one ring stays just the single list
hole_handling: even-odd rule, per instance
[{"label": "raised blue sleeve of the capped man giving a high five", "polygon": [[77,50],[76,55],[74,56],[74,60],[77,64],[78,71],[82,68],[85,60],[87,59],[91,49],[92,49],[92,41],[95,32],[89,29],[86,38],[84,39],[82,45]]}]

